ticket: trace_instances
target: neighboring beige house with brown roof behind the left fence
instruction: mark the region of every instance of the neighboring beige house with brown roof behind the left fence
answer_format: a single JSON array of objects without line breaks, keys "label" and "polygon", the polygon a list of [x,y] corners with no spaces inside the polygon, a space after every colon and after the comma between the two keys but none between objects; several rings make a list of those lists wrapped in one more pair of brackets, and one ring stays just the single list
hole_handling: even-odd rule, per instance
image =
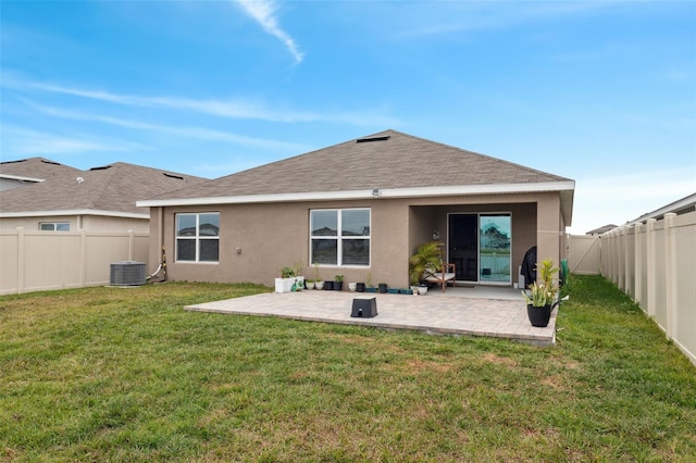
[{"label": "neighboring beige house with brown roof behind the left fence", "polygon": [[88,171],[44,158],[0,163],[0,229],[150,230],[136,200],[207,180],[117,162]]}]

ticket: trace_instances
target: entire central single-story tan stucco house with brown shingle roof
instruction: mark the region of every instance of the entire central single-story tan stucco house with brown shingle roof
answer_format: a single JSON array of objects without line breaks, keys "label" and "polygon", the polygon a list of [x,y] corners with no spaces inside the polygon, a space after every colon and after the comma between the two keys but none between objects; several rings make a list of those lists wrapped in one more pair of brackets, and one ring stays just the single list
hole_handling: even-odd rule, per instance
[{"label": "entire central single-story tan stucco house with brown shingle roof", "polygon": [[566,258],[575,183],[385,130],[138,201],[150,266],[175,280],[273,285],[307,278],[407,287],[418,245],[443,242],[457,280],[512,286],[533,246]]}]

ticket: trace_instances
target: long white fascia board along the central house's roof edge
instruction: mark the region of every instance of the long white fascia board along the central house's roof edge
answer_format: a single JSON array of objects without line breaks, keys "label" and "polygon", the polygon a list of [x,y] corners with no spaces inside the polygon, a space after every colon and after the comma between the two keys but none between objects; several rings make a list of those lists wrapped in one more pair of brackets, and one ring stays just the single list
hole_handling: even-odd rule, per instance
[{"label": "long white fascia board along the central house's roof edge", "polygon": [[544,182],[534,184],[496,184],[496,185],[465,185],[444,187],[415,187],[415,188],[375,188],[370,190],[352,191],[311,191],[279,195],[249,195],[228,196],[213,198],[183,198],[137,201],[138,208],[158,208],[170,205],[211,205],[211,204],[245,204],[260,202],[297,202],[297,201],[333,201],[349,199],[378,199],[378,198],[427,198],[445,196],[470,195],[500,195],[540,191],[572,191],[575,189],[574,180]]}]

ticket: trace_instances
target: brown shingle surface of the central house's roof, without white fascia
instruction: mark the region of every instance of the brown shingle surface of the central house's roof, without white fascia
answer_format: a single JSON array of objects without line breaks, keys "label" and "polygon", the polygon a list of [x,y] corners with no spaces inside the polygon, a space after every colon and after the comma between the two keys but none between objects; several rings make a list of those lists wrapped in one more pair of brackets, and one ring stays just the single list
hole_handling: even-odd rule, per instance
[{"label": "brown shingle surface of the central house's roof, without white fascia", "polygon": [[[375,138],[377,140],[365,140]],[[151,199],[568,180],[397,130],[385,130]]]}]

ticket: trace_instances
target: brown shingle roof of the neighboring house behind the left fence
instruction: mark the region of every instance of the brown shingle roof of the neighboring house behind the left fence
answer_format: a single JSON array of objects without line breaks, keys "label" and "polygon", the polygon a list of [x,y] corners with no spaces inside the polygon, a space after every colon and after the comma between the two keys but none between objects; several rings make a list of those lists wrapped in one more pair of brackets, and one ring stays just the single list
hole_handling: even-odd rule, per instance
[{"label": "brown shingle roof of the neighboring house behind the left fence", "polygon": [[[147,218],[149,211],[136,207],[137,199],[206,180],[122,162],[89,171],[67,166],[46,171],[46,160],[26,161],[25,165],[18,162],[3,164],[2,172],[25,168],[26,176],[47,177],[46,182],[0,191],[0,217],[92,213]],[[29,165],[38,166],[39,171],[29,172],[26,170]]]}]

